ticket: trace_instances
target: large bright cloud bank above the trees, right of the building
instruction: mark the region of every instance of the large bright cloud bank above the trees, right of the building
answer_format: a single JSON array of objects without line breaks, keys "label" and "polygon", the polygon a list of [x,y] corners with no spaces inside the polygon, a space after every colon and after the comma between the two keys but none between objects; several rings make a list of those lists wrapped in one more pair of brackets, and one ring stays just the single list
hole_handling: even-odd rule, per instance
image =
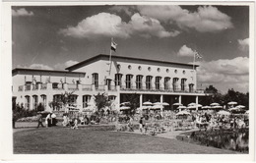
[{"label": "large bright cloud bank above the trees, right of the building", "polygon": [[249,58],[237,57],[217,61],[200,61],[197,70],[198,82],[214,84],[223,90],[234,88],[246,92],[249,85]]}]

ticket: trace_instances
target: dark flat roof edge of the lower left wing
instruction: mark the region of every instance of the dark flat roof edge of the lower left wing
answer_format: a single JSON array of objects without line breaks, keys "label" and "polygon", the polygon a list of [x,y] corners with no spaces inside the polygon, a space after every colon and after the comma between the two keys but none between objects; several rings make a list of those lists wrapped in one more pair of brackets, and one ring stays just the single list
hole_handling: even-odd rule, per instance
[{"label": "dark flat roof edge of the lower left wing", "polygon": [[85,76],[86,73],[82,72],[69,72],[69,71],[56,71],[56,70],[41,70],[41,69],[27,69],[27,68],[15,68],[12,70],[13,76],[21,73],[21,72],[32,72],[32,73],[57,73],[57,74],[65,74],[65,75],[77,75],[77,76]]}]

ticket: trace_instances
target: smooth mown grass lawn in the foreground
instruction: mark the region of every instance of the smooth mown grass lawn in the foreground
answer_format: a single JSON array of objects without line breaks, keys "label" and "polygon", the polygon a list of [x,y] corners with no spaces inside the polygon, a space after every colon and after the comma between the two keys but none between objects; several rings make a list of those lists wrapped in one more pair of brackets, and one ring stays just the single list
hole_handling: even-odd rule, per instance
[{"label": "smooth mown grass lawn in the foreground", "polygon": [[135,134],[40,128],[14,133],[15,154],[156,153],[233,154],[234,151]]}]

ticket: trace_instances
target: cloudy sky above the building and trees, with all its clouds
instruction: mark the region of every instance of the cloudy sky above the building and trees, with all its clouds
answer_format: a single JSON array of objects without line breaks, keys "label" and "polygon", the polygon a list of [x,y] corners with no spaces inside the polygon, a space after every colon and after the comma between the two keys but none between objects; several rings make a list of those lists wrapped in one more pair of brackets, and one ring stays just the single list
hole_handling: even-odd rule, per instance
[{"label": "cloudy sky above the building and trees, with all its clouds", "polygon": [[113,55],[192,63],[198,87],[247,92],[248,6],[73,6],[12,8],[13,69],[64,70]]}]

